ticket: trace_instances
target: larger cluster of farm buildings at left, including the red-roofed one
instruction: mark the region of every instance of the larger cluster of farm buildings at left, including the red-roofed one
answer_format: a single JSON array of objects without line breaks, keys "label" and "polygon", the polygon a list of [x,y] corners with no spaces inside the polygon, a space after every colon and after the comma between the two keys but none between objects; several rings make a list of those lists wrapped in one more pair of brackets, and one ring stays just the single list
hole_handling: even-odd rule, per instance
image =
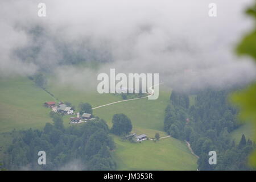
[{"label": "larger cluster of farm buildings at left, including the red-roofed one", "polygon": [[[55,102],[45,102],[44,106],[51,108],[52,111],[55,113],[60,113],[60,114],[66,114],[66,115],[71,115],[75,114],[74,109],[72,107],[68,107],[67,105],[63,104],[63,102],[55,103]],[[77,117],[71,117],[69,118],[69,123],[81,123],[81,122],[87,122],[87,121],[92,121],[93,118],[92,114],[84,113],[80,116],[80,113],[76,113]]]}]

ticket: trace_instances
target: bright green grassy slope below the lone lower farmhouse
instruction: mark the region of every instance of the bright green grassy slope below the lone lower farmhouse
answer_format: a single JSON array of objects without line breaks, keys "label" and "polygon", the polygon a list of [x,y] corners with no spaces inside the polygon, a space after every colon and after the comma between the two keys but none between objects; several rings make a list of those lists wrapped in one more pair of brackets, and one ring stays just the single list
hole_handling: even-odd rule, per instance
[{"label": "bright green grassy slope below the lone lower farmhouse", "polygon": [[196,170],[196,157],[192,156],[184,142],[165,138],[158,142],[122,142],[117,144],[115,158],[119,170]]}]

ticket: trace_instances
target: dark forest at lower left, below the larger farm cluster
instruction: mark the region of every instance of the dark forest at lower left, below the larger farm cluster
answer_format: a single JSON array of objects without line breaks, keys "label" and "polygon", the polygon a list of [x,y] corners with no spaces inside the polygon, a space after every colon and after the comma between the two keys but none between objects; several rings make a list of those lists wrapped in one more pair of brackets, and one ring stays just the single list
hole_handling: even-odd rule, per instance
[{"label": "dark forest at lower left, below the larger farm cluster", "polygon": [[[53,124],[46,123],[43,131],[13,132],[13,143],[4,161],[8,169],[52,170],[79,160],[83,170],[114,170],[111,151],[115,145],[105,121],[64,128],[61,115],[52,115]],[[46,165],[38,164],[38,151],[46,152]],[[74,164],[73,164],[74,165]]]}]

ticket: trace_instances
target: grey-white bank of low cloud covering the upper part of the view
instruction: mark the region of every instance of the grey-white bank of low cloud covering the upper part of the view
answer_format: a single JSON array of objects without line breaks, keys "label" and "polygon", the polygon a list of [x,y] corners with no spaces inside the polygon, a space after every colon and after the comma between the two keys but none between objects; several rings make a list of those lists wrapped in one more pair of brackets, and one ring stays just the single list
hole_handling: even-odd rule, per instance
[{"label": "grey-white bank of low cloud covering the upper part of the view", "polygon": [[[38,3],[46,3],[46,17]],[[209,3],[217,17],[208,16]],[[57,67],[61,82],[97,73],[59,66],[74,52],[92,61],[108,61],[125,73],[159,73],[172,88],[222,87],[255,78],[249,58],[234,54],[253,21],[244,14],[252,0],[181,1],[1,1],[0,75],[28,75],[40,67]],[[31,30],[43,28],[35,38]],[[32,48],[40,48],[36,56]],[[23,49],[24,48],[24,49]],[[20,51],[17,56],[16,50]],[[23,51],[26,50],[26,51]],[[34,50],[34,49],[33,49]],[[93,50],[92,52],[88,50]],[[35,51],[35,50],[34,50]],[[21,55],[21,56],[20,56]]]}]

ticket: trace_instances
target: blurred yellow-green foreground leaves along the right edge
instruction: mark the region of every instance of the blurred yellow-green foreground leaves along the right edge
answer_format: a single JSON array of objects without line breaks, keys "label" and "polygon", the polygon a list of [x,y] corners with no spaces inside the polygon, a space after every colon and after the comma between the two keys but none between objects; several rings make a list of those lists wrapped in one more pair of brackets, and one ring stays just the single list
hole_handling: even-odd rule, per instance
[{"label": "blurred yellow-green foreground leaves along the right edge", "polygon": [[[254,30],[247,34],[237,46],[238,55],[248,55],[256,61],[256,3],[246,13],[254,18]],[[245,90],[233,94],[232,100],[240,107],[240,117],[243,121],[252,122],[256,127],[256,83]],[[254,134],[256,140],[256,134]],[[256,167],[256,152],[251,155],[250,164]]]}]

